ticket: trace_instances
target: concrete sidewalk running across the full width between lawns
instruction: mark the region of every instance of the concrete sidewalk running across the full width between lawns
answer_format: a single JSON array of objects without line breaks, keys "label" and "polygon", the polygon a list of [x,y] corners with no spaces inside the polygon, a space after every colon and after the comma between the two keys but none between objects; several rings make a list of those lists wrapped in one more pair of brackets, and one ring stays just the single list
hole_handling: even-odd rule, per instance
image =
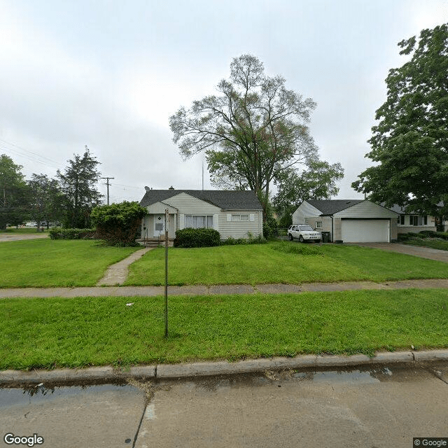
[{"label": "concrete sidewalk running across the full width between lawns", "polygon": [[[386,281],[346,281],[342,283],[283,283],[260,285],[196,285],[169,286],[169,295],[217,295],[217,294],[282,294],[347,290],[392,290],[406,288],[448,288],[448,279],[421,279]],[[113,296],[157,296],[164,295],[163,286],[86,286],[80,288],[0,288],[0,299],[9,297],[105,297]]]}]

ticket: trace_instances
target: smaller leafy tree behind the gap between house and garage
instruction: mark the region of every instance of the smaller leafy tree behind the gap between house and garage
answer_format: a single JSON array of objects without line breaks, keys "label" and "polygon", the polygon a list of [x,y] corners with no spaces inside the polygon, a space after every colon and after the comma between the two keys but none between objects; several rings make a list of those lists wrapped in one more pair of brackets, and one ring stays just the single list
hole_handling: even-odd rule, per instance
[{"label": "smaller leafy tree behind the gap between house and garage", "polygon": [[272,200],[281,224],[289,225],[295,209],[304,200],[323,200],[339,193],[337,181],[344,177],[344,169],[338,162],[330,165],[323,160],[311,160],[301,173],[288,169],[277,181],[277,194]]}]

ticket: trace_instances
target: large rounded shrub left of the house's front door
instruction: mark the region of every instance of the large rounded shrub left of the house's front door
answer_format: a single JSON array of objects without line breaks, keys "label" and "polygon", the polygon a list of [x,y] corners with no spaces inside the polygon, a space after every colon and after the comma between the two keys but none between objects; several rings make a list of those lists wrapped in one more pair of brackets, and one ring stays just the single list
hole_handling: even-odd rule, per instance
[{"label": "large rounded shrub left of the house's front door", "polygon": [[97,226],[97,237],[113,246],[138,246],[135,241],[143,218],[148,211],[138,202],[95,207],[90,214],[92,223]]}]

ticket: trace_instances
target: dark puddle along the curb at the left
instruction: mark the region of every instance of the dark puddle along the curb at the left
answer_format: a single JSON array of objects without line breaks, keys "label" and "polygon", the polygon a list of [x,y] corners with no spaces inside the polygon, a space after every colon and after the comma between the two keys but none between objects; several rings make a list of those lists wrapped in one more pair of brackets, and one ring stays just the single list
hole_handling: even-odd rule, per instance
[{"label": "dark puddle along the curb at the left", "polygon": [[101,384],[86,386],[30,386],[27,388],[1,388],[0,407],[30,405],[38,402],[67,398],[70,395],[90,395],[96,393],[120,391],[126,394],[140,395],[141,391],[129,384]]}]

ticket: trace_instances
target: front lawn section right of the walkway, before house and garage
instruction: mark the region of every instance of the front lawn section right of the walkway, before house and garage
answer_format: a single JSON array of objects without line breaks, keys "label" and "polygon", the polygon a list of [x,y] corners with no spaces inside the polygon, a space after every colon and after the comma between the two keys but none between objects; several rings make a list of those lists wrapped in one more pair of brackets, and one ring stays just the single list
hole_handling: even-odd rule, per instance
[{"label": "front lawn section right of the walkway, before house and garage", "polygon": [[[304,253],[297,253],[303,251]],[[130,266],[127,285],[162,285],[165,250]],[[448,278],[448,264],[400,253],[339,244],[272,242],[247,246],[170,248],[171,285],[312,283]]]}]

